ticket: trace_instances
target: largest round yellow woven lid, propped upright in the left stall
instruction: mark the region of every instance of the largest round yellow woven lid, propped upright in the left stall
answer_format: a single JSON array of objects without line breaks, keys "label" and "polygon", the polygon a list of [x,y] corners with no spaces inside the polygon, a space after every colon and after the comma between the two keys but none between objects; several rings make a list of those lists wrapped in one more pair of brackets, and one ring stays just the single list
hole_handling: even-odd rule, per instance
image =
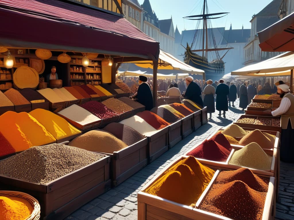
[{"label": "largest round yellow woven lid, propped upright in the left stall", "polygon": [[35,89],[39,84],[39,74],[34,68],[28,66],[18,67],[13,74],[13,83],[19,89]]}]

